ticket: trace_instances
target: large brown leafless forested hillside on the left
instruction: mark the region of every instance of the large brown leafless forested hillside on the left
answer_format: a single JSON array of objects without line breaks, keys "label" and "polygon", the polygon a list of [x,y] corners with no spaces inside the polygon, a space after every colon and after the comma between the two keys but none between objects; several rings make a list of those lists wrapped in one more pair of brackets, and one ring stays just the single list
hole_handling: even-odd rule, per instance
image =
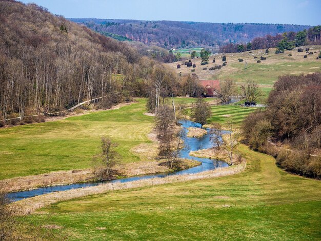
[{"label": "large brown leafless forested hillside on the left", "polygon": [[0,121],[137,93],[136,81],[149,73],[144,59],[142,67],[142,57],[126,43],[45,8],[0,1]]}]

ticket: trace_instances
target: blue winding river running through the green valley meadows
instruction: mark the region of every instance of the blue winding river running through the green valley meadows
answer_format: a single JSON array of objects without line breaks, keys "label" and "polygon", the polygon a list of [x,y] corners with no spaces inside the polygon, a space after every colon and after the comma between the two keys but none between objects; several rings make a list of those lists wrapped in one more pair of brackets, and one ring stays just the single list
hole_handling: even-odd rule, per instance
[{"label": "blue winding river running through the green valley meadows", "polygon": [[[185,148],[180,150],[179,156],[182,158],[198,160],[199,162],[202,163],[202,165],[192,167],[192,168],[182,170],[182,171],[175,171],[175,172],[169,172],[169,173],[158,173],[158,174],[152,174],[152,175],[133,176],[133,177],[127,177],[127,178],[122,178],[122,179],[109,180],[106,182],[126,183],[126,182],[132,182],[134,180],[148,179],[148,178],[154,178],[154,177],[166,177],[166,176],[170,176],[170,175],[198,173],[198,172],[213,170],[218,167],[227,167],[228,166],[228,164],[223,162],[222,160],[209,159],[209,158],[199,158],[199,157],[190,156],[189,153],[191,151],[197,151],[200,149],[211,148],[213,146],[213,144],[210,141],[210,137],[211,137],[211,134],[209,133],[210,130],[206,129],[207,134],[205,134],[201,138],[187,137],[187,132],[188,132],[187,128],[200,127],[200,124],[189,121],[187,119],[181,119],[179,121],[179,123],[183,127],[182,139],[183,139],[184,145],[185,145]],[[18,200],[21,200],[24,198],[38,196],[38,195],[42,195],[42,194],[46,194],[46,193],[50,193],[50,192],[58,192],[58,191],[65,191],[65,190],[69,190],[69,189],[75,189],[75,188],[97,186],[99,184],[106,183],[106,182],[78,183],[78,184],[70,184],[70,185],[43,187],[43,188],[37,188],[37,189],[28,190],[28,191],[8,193],[7,195],[12,202],[15,202],[15,201],[18,201]]]}]

